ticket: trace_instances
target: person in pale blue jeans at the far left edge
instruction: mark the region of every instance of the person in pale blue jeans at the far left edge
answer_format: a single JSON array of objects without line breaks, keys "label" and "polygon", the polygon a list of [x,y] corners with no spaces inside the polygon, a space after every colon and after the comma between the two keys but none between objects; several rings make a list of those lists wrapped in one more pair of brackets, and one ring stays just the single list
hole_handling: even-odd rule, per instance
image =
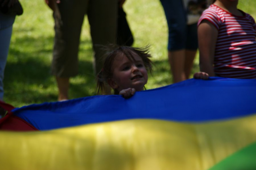
[{"label": "person in pale blue jeans at the far left edge", "polygon": [[12,25],[23,9],[18,0],[0,0],[0,100],[4,97],[4,71],[11,41]]}]

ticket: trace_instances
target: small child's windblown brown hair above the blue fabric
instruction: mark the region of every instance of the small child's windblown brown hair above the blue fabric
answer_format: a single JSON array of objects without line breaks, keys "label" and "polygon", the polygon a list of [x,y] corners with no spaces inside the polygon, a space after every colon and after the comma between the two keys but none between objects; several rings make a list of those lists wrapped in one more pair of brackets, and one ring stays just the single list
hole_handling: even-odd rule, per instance
[{"label": "small child's windblown brown hair above the blue fabric", "polygon": [[[104,47],[106,54],[104,58],[104,63],[101,71],[97,75],[97,94],[104,94],[106,92],[105,84],[108,79],[113,76],[113,62],[117,56],[126,56],[129,60],[134,59],[134,53],[138,54],[146,68],[147,71],[152,73],[152,61],[149,59],[151,55],[149,54],[150,46],[145,47],[128,47],[128,46],[117,46],[117,45],[109,45]],[[117,89],[114,89],[114,94],[118,94]]]}]

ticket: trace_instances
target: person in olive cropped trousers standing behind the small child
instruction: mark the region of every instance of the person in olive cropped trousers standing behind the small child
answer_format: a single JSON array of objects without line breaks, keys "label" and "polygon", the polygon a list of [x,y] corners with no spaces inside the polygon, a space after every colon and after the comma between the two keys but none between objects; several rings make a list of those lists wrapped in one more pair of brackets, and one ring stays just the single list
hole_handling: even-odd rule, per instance
[{"label": "person in olive cropped trousers standing behind the small child", "polygon": [[[120,6],[125,0],[119,0]],[[56,77],[58,100],[67,100],[70,77],[78,74],[81,27],[87,14],[93,43],[94,71],[102,67],[102,45],[116,44],[118,0],[45,0],[55,21],[52,74]]]}]

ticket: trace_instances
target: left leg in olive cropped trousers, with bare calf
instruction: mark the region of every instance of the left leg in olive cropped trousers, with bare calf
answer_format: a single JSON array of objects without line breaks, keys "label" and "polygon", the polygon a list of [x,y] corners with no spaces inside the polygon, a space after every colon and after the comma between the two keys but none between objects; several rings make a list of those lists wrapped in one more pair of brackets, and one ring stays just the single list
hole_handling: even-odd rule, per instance
[{"label": "left leg in olive cropped trousers, with bare calf", "polygon": [[68,99],[69,78],[78,74],[79,39],[87,5],[85,0],[61,1],[53,14],[55,39],[52,74],[58,85],[58,100]]}]

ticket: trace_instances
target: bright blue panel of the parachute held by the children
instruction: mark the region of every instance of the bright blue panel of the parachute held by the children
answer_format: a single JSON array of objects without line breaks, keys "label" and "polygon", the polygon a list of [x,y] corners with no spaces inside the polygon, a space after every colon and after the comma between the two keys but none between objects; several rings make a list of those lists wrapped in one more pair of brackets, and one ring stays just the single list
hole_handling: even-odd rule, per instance
[{"label": "bright blue panel of the parachute held by the children", "polygon": [[211,77],[119,95],[92,96],[65,102],[32,104],[14,115],[39,130],[125,119],[205,122],[256,113],[256,80]]}]

